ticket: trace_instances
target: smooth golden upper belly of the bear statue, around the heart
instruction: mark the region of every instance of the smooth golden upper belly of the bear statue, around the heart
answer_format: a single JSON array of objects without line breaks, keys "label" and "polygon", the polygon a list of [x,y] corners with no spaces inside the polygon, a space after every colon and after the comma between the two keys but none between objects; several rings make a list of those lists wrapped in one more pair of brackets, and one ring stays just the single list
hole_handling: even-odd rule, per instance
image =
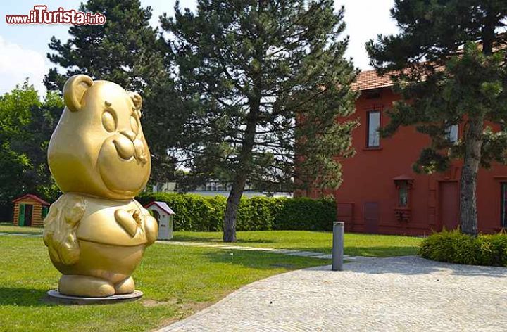
[{"label": "smooth golden upper belly of the bear statue, around the heart", "polygon": [[117,210],[124,210],[131,214],[137,211],[142,215],[138,204],[134,200],[125,202],[87,197],[84,215],[77,226],[77,238],[80,241],[122,247],[143,245],[146,243],[143,225],[139,225],[136,234],[131,236],[115,219]]}]

